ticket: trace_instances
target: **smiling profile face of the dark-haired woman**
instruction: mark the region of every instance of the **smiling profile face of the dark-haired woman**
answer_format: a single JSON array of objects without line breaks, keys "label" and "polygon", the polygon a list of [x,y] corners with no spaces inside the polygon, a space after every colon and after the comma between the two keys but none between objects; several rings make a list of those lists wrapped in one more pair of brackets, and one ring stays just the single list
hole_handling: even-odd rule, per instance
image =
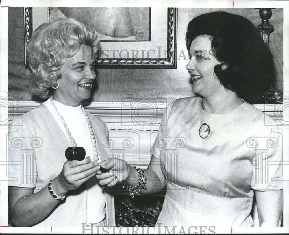
[{"label": "smiling profile face of the dark-haired woman", "polygon": [[197,36],[191,44],[186,66],[192,77],[192,91],[203,97],[214,95],[223,85],[214,74],[214,67],[221,64],[214,56],[209,36]]}]

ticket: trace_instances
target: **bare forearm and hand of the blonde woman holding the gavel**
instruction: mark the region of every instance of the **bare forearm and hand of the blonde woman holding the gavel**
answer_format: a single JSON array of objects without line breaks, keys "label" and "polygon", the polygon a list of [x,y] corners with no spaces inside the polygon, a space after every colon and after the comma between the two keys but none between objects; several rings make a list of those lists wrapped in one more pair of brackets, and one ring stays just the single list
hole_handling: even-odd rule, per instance
[{"label": "bare forearm and hand of the blonde woman holding the gavel", "polygon": [[[98,170],[97,162],[91,162],[90,157],[82,161],[66,161],[60,174],[52,180],[52,188],[58,195],[64,195],[94,177]],[[19,227],[42,221],[59,203],[48,191],[48,186],[37,193],[27,188],[23,189],[26,189],[26,192],[10,187],[9,192],[12,220]]]}]

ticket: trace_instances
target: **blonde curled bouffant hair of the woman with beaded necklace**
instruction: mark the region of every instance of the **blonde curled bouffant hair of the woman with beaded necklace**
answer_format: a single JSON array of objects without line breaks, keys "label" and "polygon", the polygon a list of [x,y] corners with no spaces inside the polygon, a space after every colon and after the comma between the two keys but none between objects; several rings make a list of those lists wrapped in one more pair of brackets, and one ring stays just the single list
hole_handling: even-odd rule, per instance
[{"label": "blonde curled bouffant hair of the woman with beaded necklace", "polygon": [[95,30],[83,21],[62,18],[40,25],[27,45],[30,91],[41,99],[50,97],[66,58],[73,57],[81,45],[93,47],[95,56],[99,44]]}]

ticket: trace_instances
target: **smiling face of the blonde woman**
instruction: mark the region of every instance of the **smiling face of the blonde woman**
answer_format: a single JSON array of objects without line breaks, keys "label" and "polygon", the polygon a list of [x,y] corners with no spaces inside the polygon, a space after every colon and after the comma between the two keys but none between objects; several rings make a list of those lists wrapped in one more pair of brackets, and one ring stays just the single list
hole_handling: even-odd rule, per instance
[{"label": "smiling face of the blonde woman", "polygon": [[68,106],[79,106],[90,97],[92,82],[96,77],[95,60],[90,53],[92,48],[83,46],[60,67],[62,77],[57,80],[59,87],[53,93],[53,99]]}]

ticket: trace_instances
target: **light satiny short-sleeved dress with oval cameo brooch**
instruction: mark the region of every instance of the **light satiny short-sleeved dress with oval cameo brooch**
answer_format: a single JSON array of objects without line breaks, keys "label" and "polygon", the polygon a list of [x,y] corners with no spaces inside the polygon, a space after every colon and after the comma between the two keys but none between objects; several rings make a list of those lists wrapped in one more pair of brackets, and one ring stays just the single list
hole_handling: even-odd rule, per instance
[{"label": "light satiny short-sleeved dress with oval cameo brooch", "polygon": [[[167,182],[156,226],[253,227],[252,189],[283,188],[282,135],[272,119],[266,117],[265,126],[265,115],[246,102],[214,114],[201,101],[170,103],[151,148]],[[199,135],[204,123],[210,127],[207,138]]]}]

